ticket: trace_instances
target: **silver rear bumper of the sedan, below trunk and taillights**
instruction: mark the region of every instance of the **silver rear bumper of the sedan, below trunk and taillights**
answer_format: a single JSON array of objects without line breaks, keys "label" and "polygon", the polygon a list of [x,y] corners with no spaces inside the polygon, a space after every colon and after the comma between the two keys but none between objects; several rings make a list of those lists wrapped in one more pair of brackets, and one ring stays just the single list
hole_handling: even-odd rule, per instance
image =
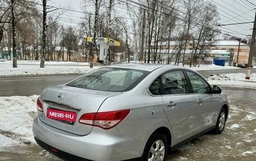
[{"label": "silver rear bumper of the sedan, below trunk and taillights", "polygon": [[138,153],[140,150],[127,148],[133,141],[129,138],[115,135],[116,131],[116,129],[108,130],[108,132],[111,132],[111,135],[108,135],[106,133],[103,134],[103,132],[100,133],[96,128],[89,135],[80,136],[46,125],[38,117],[35,117],[33,121],[35,141],[42,148],[60,158],[67,160],[112,161],[130,158],[138,159],[141,157],[141,154]]}]

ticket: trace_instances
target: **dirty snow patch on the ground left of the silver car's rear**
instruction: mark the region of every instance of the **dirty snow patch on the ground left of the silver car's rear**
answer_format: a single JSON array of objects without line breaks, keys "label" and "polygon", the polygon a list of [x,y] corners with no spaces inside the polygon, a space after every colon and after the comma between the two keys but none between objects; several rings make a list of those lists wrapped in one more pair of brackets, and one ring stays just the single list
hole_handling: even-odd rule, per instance
[{"label": "dirty snow patch on the ground left of the silver car's rear", "polygon": [[35,142],[32,124],[37,98],[38,95],[0,97],[0,148]]}]

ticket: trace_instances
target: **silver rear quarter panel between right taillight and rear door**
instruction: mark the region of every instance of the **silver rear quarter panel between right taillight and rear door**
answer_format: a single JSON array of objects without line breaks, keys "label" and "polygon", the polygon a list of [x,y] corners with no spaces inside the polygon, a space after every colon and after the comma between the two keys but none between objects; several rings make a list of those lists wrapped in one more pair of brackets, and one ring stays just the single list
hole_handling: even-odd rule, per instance
[{"label": "silver rear quarter panel between right taillight and rear door", "polygon": [[116,128],[122,136],[132,137],[126,147],[138,155],[142,155],[150,135],[159,127],[167,127],[172,135],[170,123],[164,114],[162,96],[151,96],[147,92],[148,86],[157,76],[149,75],[134,89],[107,98],[99,108],[99,112],[131,110]]}]

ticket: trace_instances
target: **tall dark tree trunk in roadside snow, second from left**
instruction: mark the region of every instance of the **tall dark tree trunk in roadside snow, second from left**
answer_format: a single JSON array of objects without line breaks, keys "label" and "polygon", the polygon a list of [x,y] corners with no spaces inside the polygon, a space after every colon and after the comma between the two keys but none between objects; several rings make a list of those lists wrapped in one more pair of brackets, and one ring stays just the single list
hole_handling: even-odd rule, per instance
[{"label": "tall dark tree trunk in roadside snow, second from left", "polygon": [[45,60],[45,48],[46,48],[46,3],[47,0],[43,0],[43,34],[42,34],[42,55],[40,60],[40,68],[44,68],[44,60]]}]

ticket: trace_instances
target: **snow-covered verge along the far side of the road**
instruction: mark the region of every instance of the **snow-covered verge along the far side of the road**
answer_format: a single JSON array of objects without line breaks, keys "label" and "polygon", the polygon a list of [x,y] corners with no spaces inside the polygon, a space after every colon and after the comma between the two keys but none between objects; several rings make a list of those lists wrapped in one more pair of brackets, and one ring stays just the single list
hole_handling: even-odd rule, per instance
[{"label": "snow-covered verge along the far side of the road", "polygon": [[[89,63],[45,61],[45,67],[40,68],[40,61],[17,61],[17,68],[12,68],[12,61],[0,61],[0,76],[18,75],[54,75],[54,74],[81,74],[99,68],[89,68]],[[216,65],[201,65],[194,70],[225,70],[237,67],[222,67]]]}]

